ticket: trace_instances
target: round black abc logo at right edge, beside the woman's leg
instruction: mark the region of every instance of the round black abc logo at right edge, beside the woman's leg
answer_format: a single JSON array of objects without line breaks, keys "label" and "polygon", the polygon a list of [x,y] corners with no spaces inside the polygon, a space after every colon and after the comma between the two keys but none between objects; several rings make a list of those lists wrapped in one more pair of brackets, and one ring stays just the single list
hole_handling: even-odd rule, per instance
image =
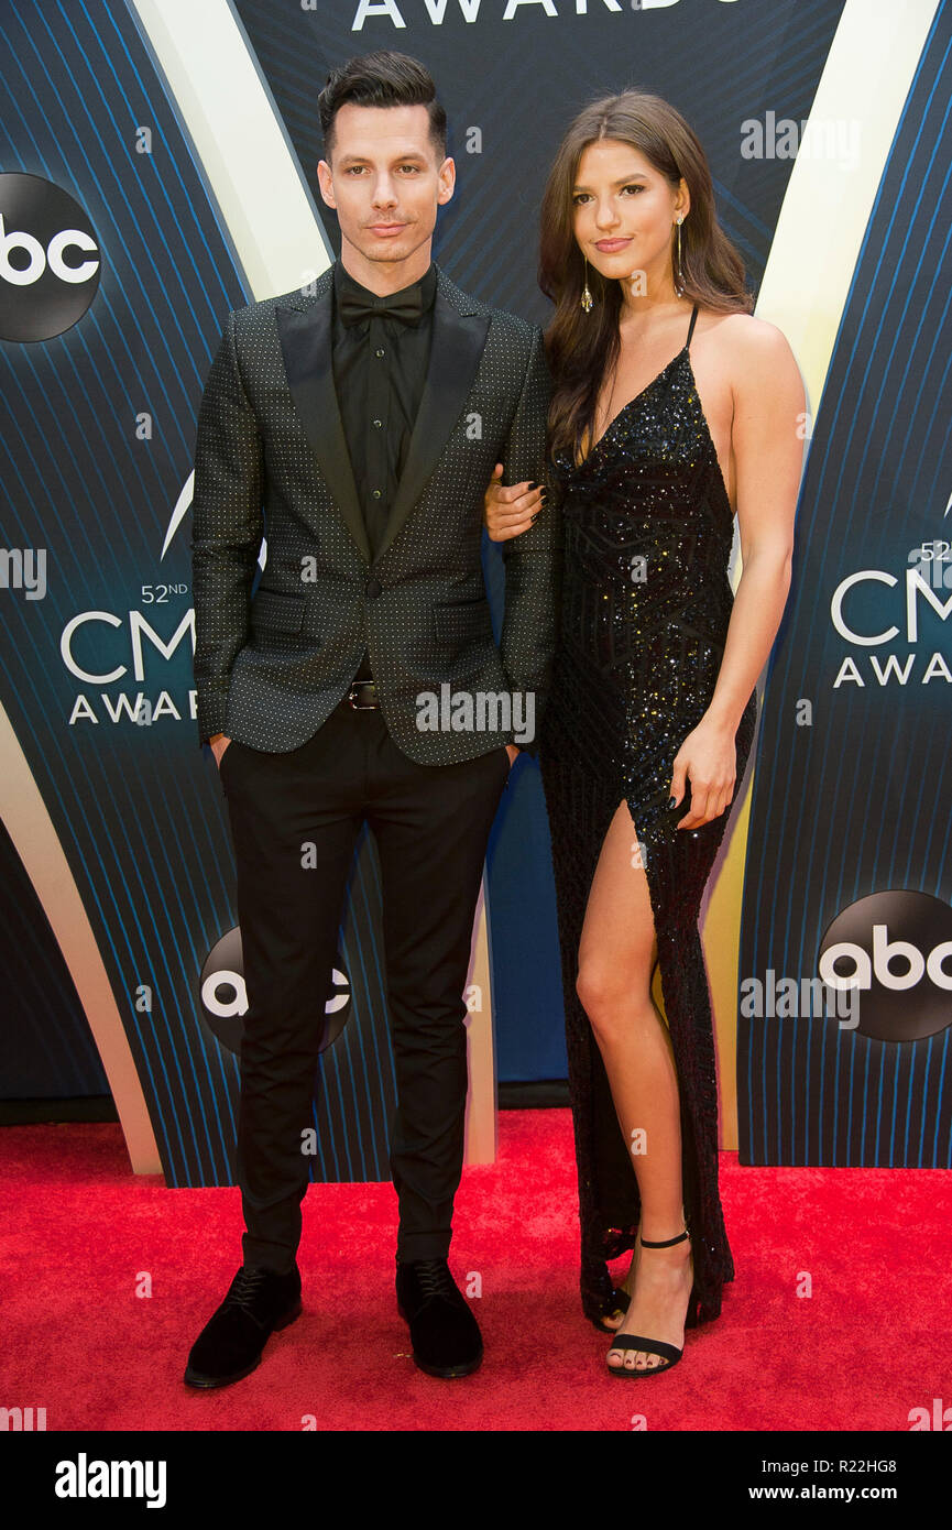
[{"label": "round black abc logo at right edge, beside the woman's leg", "polygon": [[952,1025],[952,907],[928,892],[874,892],[837,913],[819,975],[859,990],[863,1036],[914,1042]]}]

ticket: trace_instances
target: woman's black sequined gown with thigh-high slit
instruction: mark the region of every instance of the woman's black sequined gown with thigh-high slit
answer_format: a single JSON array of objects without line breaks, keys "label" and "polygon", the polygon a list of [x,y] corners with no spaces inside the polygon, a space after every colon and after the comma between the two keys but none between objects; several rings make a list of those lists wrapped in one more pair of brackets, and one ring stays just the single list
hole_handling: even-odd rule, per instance
[{"label": "woman's black sequined gown with thigh-high slit", "polygon": [[[673,757],[715,688],[733,594],[733,513],[684,349],[631,399],[580,467],[556,456],[563,490],[562,638],[539,763],[549,817],[562,947],[579,1207],[582,1305],[612,1308],[606,1261],[635,1242],[640,1198],[605,1065],[575,993],[598,851],[624,799],[654,909],[664,1011],[681,1100],[683,1184],[696,1317],[721,1311],[733,1261],[718,1195],[713,1019],[698,916],[732,806],[696,831],[667,808]],[[736,779],[756,724],[736,731]],[[735,788],[736,800],[736,788]],[[635,849],[632,846],[632,849]]]}]

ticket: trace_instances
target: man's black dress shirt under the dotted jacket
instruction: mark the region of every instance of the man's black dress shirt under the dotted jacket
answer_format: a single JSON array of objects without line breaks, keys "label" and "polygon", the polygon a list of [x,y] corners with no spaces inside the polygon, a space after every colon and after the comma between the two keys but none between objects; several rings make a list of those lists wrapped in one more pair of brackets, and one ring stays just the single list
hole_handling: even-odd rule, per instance
[{"label": "man's black dress shirt under the dotted jacket", "polygon": [[[401,288],[401,295],[419,289],[422,312],[418,320],[369,314],[357,323],[344,324],[338,300],[347,288],[375,308],[384,308],[390,298],[377,297],[355,282],[340,260],[335,262],[334,386],[370,554],[377,557],[422,398],[433,340],[436,266],[430,263],[419,282]],[[372,678],[366,650],[354,678]]]}]

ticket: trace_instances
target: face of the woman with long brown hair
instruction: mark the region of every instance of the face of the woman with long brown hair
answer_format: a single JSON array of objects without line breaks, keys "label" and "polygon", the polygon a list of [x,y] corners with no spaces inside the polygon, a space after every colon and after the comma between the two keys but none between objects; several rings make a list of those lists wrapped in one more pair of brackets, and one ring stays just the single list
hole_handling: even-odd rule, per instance
[{"label": "face of the woman with long brown hair", "polygon": [[644,274],[646,291],[670,285],[670,239],[687,188],[670,184],[631,144],[602,138],[580,155],[572,187],[579,249],[609,280]]}]

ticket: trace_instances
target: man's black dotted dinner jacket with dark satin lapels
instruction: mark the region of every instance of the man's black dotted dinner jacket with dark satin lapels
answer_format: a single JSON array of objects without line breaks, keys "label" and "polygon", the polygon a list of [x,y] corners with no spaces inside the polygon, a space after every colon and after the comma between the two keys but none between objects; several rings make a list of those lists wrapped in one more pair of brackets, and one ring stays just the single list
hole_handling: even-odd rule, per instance
[{"label": "man's black dotted dinner jacket with dark satin lapels", "polygon": [[[375,558],[334,386],[332,271],[228,314],[194,448],[202,742],[225,733],[256,750],[300,747],[346,696],[367,647],[384,722],[410,759],[445,765],[511,742],[536,753],[562,549],[542,330],[436,271],[429,370]],[[499,644],[481,560],[496,462],[505,483],[549,488],[534,525],[500,545]],[[534,718],[531,741],[516,736],[519,716]]]}]

